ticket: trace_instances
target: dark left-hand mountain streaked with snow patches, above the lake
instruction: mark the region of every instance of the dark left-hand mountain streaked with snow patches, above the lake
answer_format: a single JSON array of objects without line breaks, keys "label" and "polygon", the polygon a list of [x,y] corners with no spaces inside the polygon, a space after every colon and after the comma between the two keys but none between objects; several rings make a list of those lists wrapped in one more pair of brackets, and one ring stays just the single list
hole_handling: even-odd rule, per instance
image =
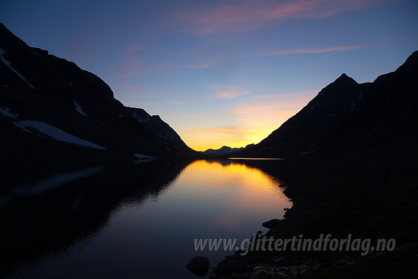
[{"label": "dark left-hand mountain streaked with snow patches, above the lake", "polygon": [[3,158],[199,154],[159,116],[125,107],[99,77],[29,47],[2,24],[0,55]]}]

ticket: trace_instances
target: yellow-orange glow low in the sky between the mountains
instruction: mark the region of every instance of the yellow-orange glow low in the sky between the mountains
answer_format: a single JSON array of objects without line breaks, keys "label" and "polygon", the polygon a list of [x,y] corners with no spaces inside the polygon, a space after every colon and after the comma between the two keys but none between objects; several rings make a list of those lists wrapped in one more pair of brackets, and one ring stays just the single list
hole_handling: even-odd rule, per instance
[{"label": "yellow-orange glow low in the sky between the mountains", "polygon": [[297,114],[318,92],[313,89],[256,96],[250,102],[231,105],[224,111],[207,115],[210,123],[199,119],[199,128],[193,125],[179,127],[176,131],[187,146],[196,151],[257,144]]}]

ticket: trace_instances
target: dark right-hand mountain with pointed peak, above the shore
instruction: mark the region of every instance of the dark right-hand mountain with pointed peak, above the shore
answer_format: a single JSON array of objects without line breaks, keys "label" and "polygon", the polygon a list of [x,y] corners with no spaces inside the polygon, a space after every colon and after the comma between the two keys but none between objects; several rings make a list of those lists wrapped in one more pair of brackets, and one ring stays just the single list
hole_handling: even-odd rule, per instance
[{"label": "dark right-hand mountain with pointed peak, above the shore", "polygon": [[293,157],[414,148],[418,51],[396,71],[358,84],[343,73],[259,144],[235,156]]}]

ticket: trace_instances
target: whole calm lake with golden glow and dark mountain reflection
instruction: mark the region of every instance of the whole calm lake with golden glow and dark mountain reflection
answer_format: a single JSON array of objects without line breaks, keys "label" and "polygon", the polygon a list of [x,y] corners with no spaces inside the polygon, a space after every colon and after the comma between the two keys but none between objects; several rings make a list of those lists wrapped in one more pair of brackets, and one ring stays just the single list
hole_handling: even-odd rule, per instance
[{"label": "whole calm lake with golden glow and dark mountain reflection", "polygon": [[274,160],[155,160],[22,183],[0,199],[2,277],[202,278],[186,268],[193,256],[215,267],[235,249],[195,250],[195,239],[240,247],[292,206],[271,168]]}]

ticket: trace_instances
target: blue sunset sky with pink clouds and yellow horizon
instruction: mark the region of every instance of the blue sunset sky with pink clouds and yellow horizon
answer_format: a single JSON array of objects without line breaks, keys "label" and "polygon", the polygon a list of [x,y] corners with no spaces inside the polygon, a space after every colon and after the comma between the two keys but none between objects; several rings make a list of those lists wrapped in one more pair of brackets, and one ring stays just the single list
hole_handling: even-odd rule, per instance
[{"label": "blue sunset sky with pink clouds and yellow horizon", "polygon": [[341,73],[418,49],[417,0],[1,0],[0,22],[198,151],[258,143]]}]

